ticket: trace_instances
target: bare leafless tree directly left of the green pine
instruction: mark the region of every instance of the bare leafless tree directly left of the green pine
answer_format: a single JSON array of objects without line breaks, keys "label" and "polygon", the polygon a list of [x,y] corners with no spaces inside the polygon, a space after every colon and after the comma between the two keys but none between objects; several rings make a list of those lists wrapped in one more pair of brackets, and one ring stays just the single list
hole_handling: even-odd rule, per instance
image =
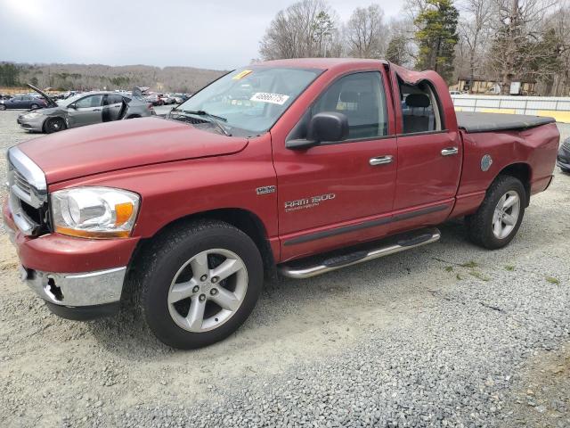
[{"label": "bare leafless tree directly left of the green pine", "polygon": [[378,4],[357,7],[346,24],[348,53],[356,58],[380,58],[385,53],[384,11]]}]

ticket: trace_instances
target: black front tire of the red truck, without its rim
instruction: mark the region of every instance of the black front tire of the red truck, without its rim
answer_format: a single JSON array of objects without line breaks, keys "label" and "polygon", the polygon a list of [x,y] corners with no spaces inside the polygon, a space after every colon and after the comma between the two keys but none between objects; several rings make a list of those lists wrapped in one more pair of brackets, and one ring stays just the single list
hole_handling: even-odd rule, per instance
[{"label": "black front tire of the red truck, without its rim", "polygon": [[[212,249],[232,251],[240,257],[247,269],[247,290],[239,308],[223,324],[205,332],[190,332],[171,317],[168,292],[188,260]],[[178,226],[160,235],[148,251],[142,251],[134,269],[138,311],[159,341],[183,350],[208,346],[235,332],[256,306],[264,279],[262,258],[251,238],[234,226],[214,220]]]}]

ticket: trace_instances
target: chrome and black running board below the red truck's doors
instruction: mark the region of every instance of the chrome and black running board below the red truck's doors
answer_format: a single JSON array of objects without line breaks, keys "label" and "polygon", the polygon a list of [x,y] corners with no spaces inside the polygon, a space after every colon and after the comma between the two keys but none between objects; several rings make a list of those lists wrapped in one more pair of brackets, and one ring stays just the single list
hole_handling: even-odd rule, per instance
[{"label": "chrome and black running board below the red truck's doors", "polygon": [[282,276],[288,276],[289,278],[310,278],[365,261],[379,259],[396,252],[410,250],[427,243],[435,243],[440,237],[441,233],[436,228],[420,229],[411,234],[396,235],[383,242],[375,243],[374,247],[371,247],[369,244],[367,249],[347,253],[337,252],[336,255],[330,255],[313,264],[308,264],[307,260],[293,261],[290,265],[279,265],[278,270]]}]

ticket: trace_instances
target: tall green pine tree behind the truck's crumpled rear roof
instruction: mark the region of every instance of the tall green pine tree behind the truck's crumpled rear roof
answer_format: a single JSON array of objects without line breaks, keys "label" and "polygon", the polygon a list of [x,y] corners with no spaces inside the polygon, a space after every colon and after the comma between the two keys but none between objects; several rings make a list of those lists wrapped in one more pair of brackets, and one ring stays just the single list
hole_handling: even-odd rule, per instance
[{"label": "tall green pine tree behind the truck's crumpled rear roof", "polygon": [[427,0],[427,7],[415,19],[419,30],[416,67],[436,70],[445,80],[452,78],[455,45],[459,40],[459,12],[452,0]]}]

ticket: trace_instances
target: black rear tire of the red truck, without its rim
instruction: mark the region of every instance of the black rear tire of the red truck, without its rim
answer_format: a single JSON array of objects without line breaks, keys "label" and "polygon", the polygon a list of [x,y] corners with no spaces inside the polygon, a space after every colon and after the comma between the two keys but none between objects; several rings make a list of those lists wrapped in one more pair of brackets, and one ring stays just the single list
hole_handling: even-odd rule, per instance
[{"label": "black rear tire of the red truck, without its rim", "polygon": [[[495,207],[501,197],[508,192],[516,192],[519,197],[520,206],[517,223],[514,225],[509,235],[499,238],[493,234],[493,215]],[[515,177],[499,176],[495,178],[493,184],[487,189],[485,199],[475,214],[465,218],[469,239],[488,250],[497,250],[512,241],[517,235],[527,205],[527,194],[525,186]]]}]

